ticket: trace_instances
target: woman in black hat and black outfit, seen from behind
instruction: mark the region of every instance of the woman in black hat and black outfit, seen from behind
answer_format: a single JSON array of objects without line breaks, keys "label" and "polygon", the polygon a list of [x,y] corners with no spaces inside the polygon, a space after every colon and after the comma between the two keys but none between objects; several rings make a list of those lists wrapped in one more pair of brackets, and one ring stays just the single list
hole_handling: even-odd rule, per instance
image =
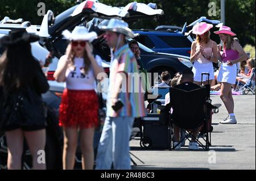
[{"label": "woman in black hat and black outfit, seen from behind", "polygon": [[46,145],[46,111],[41,94],[49,85],[30,45],[38,40],[26,30],[10,31],[0,40],[6,48],[0,58],[0,129],[6,134],[8,169],[21,169],[24,138],[33,169],[46,169],[45,162],[38,162],[38,151]]}]

